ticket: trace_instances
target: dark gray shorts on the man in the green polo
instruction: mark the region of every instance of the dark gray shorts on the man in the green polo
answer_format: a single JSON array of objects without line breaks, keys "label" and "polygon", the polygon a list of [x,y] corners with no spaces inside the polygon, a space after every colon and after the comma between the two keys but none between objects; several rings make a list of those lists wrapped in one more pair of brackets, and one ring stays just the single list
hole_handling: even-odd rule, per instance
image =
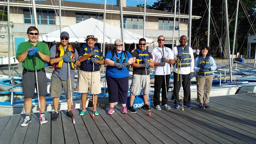
[{"label": "dark gray shorts on the man in the green polo", "polygon": [[[39,96],[44,96],[47,94],[47,77],[45,75],[45,70],[37,72],[37,82],[38,82],[38,90]],[[30,98],[34,96],[36,88],[36,73],[22,71],[22,91],[23,96]]]}]

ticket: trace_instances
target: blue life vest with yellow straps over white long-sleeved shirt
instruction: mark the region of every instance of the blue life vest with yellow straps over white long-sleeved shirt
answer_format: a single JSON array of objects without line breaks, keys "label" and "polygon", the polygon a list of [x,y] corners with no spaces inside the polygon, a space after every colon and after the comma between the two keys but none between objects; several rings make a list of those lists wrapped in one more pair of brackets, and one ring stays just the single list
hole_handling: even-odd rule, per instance
[{"label": "blue life vest with yellow straps over white long-sleeved shirt", "polygon": [[[184,49],[180,47],[180,45],[177,46],[178,52],[182,52],[182,55],[180,56],[179,59],[176,61],[176,68],[180,67],[189,67],[191,64],[191,55],[189,53],[189,47],[186,45]],[[180,62],[180,61],[181,62]],[[180,64],[181,63],[181,64]]]}]

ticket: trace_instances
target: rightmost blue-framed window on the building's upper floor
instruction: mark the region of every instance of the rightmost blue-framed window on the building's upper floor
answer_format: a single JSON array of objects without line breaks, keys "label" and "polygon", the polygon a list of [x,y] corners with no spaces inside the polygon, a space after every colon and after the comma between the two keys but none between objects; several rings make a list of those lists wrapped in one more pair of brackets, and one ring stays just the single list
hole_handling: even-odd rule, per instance
[{"label": "rightmost blue-framed window on the building's upper floor", "polygon": [[[175,21],[175,30],[179,30],[179,21]],[[158,18],[159,30],[173,30],[173,19]]]}]

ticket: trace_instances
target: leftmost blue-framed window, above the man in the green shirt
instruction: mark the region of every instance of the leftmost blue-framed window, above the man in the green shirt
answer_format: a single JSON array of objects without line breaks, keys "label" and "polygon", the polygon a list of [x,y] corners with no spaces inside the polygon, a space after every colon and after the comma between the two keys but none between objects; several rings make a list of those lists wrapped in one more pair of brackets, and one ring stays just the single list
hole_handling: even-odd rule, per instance
[{"label": "leftmost blue-framed window, above the man in the green shirt", "polygon": [[[24,23],[34,24],[32,10],[23,10]],[[54,11],[36,10],[37,23],[40,25],[56,25],[56,15]]]}]

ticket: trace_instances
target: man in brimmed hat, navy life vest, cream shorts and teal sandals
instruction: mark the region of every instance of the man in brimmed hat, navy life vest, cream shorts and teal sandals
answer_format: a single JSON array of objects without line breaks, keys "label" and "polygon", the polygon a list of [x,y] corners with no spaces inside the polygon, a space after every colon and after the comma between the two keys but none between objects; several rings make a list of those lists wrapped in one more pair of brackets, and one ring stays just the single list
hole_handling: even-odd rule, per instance
[{"label": "man in brimmed hat, navy life vest, cream shorts and teal sandals", "polygon": [[84,44],[79,51],[79,61],[81,62],[81,65],[77,80],[77,92],[82,93],[81,101],[83,105],[83,110],[79,115],[83,116],[86,113],[86,94],[88,88],[90,88],[90,93],[94,95],[93,113],[97,116],[99,115],[99,112],[96,110],[97,94],[101,93],[99,66],[104,64],[103,54],[98,46],[94,46],[95,42],[98,41],[98,38],[89,35],[84,41],[86,41],[86,44]]}]

